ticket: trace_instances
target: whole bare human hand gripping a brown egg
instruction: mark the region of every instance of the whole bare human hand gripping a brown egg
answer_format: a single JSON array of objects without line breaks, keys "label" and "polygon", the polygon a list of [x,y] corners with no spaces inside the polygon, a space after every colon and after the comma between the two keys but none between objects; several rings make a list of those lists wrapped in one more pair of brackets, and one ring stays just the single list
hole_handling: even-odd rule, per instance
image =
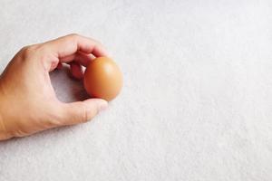
[{"label": "whole bare human hand gripping a brown egg", "polygon": [[85,122],[105,109],[108,103],[101,99],[61,102],[49,77],[57,66],[70,63],[73,75],[82,79],[82,66],[93,56],[107,53],[100,43],[77,34],[18,52],[0,76],[0,140]]}]

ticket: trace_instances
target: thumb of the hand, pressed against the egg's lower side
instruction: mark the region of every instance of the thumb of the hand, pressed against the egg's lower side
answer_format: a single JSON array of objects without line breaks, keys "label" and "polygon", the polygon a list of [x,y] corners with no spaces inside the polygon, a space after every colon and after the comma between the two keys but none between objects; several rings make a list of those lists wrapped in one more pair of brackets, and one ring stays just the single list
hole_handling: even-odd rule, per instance
[{"label": "thumb of the hand, pressed against the egg's lower side", "polygon": [[106,109],[108,102],[102,99],[89,99],[63,105],[62,125],[73,125],[92,119],[99,111]]}]

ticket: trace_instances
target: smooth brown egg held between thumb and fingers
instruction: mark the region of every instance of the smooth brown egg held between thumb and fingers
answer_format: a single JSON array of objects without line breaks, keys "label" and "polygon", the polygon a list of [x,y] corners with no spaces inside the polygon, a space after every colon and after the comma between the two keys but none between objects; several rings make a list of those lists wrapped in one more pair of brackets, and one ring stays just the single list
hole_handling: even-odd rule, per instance
[{"label": "smooth brown egg held between thumb and fingers", "polygon": [[113,100],[121,86],[121,71],[110,58],[94,59],[84,72],[84,88],[92,97]]}]

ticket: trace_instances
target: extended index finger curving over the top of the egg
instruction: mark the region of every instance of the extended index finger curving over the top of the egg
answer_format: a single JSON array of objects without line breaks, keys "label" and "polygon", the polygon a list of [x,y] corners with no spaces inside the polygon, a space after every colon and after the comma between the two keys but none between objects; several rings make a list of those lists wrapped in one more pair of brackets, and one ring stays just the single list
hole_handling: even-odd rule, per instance
[{"label": "extended index finger curving over the top of the egg", "polygon": [[44,43],[44,46],[47,46],[54,56],[59,59],[75,52],[92,53],[96,57],[108,55],[101,43],[74,33]]}]

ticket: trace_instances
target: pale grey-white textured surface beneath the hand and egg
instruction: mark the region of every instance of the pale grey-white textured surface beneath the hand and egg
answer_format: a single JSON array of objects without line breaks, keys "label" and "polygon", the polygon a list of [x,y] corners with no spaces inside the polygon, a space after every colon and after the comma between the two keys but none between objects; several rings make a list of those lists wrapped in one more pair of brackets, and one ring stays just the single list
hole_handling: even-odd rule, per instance
[{"label": "pale grey-white textured surface beneath the hand and egg", "polygon": [[[83,33],[124,74],[121,95],[91,122],[1,142],[1,181],[272,179],[271,1],[0,7],[0,71],[25,44]],[[64,71],[52,79],[61,100],[84,97]]]}]

